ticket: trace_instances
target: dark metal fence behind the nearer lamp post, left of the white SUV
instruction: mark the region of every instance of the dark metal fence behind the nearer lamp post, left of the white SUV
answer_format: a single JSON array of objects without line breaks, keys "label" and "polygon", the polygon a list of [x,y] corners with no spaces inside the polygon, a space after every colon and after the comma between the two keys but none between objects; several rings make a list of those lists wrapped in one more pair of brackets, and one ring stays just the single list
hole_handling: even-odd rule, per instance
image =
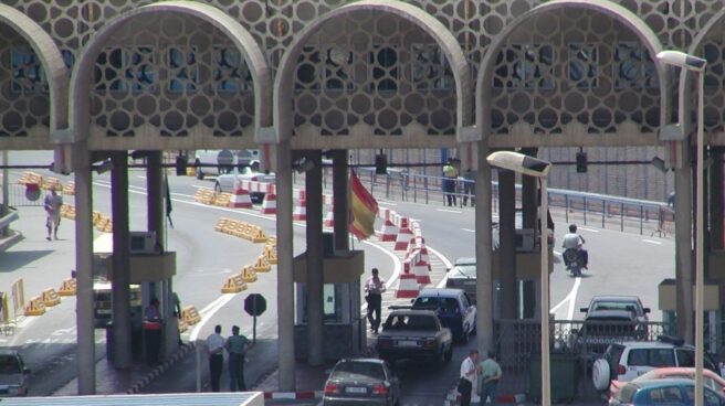
[{"label": "dark metal fence behind the nearer lamp post, left of the white SUV", "polygon": [[[675,335],[675,325],[662,322],[633,324],[617,321],[556,320],[550,323],[549,333],[553,360],[558,354],[576,356],[576,397],[579,399],[601,396],[591,382],[591,367],[609,344],[655,341],[663,334]],[[537,320],[496,320],[494,338],[495,351],[504,371],[500,391],[526,393],[530,398],[537,398],[540,385],[533,381],[540,378],[540,323]],[[551,374],[553,378],[556,378],[555,367],[551,367]]]}]

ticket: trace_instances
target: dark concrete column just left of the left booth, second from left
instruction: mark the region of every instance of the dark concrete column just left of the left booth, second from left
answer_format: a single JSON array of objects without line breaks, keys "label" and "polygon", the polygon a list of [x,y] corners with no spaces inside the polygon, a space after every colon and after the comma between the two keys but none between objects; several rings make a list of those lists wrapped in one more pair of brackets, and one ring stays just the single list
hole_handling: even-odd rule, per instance
[{"label": "dark concrete column just left of the left booth, second from left", "polygon": [[132,365],[130,351],[130,269],[128,245],[128,154],[114,152],[111,171],[111,204],[113,217],[113,338],[114,365]]}]

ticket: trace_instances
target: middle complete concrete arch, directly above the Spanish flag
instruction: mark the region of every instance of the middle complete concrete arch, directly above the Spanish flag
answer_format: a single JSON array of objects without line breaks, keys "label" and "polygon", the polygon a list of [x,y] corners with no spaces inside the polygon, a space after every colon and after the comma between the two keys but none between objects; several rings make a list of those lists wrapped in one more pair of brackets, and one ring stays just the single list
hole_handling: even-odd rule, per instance
[{"label": "middle complete concrete arch, directly above the Spanish flag", "polygon": [[356,11],[379,11],[396,15],[419,26],[435,40],[445,54],[455,79],[456,128],[460,129],[472,124],[471,74],[463,51],[453,34],[434,17],[418,7],[402,1],[364,0],[343,6],[319,17],[295,35],[287,47],[274,79],[275,142],[284,142],[292,136],[293,115],[290,113],[292,111],[294,70],[303,46],[327,21]]}]

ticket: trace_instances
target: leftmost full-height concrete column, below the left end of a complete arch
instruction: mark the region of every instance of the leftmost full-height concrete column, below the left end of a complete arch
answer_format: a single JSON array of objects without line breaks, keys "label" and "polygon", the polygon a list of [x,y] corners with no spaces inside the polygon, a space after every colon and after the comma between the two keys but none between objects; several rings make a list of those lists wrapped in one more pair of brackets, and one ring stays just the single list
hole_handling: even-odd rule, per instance
[{"label": "leftmost full-height concrete column, below the left end of a complete arch", "polygon": [[73,170],[78,395],[94,395],[96,393],[96,360],[93,325],[93,192],[90,152],[85,142],[73,145]]}]

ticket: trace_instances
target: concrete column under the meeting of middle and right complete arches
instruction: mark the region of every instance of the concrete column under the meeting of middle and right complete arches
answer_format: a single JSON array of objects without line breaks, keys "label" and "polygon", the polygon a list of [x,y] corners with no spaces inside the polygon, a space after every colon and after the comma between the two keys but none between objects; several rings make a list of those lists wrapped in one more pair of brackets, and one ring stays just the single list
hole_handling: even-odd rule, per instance
[{"label": "concrete column under the meeting of middle and right complete arches", "polygon": [[476,344],[480,351],[494,349],[493,336],[493,252],[491,238],[491,165],[488,146],[479,142],[475,171],[475,255],[476,255]]}]

